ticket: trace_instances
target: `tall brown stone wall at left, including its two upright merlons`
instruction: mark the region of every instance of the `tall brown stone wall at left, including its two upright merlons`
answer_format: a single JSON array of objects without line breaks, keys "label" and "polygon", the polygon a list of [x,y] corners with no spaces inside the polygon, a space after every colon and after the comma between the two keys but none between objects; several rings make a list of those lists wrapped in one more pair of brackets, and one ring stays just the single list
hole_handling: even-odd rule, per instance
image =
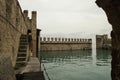
[{"label": "tall brown stone wall at left, including its two upright merlons", "polygon": [[20,36],[27,35],[28,30],[33,40],[31,49],[36,54],[36,12],[29,19],[28,11],[22,12],[17,0],[0,0],[0,80],[14,80],[10,76],[14,74]]}]

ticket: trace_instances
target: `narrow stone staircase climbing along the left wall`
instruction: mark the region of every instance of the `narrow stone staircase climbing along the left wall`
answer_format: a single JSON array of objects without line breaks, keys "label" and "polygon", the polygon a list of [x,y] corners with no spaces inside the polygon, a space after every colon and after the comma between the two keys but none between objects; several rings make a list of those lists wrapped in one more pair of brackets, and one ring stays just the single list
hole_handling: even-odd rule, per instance
[{"label": "narrow stone staircase climbing along the left wall", "polygon": [[27,53],[28,53],[28,36],[21,35],[17,61],[16,61],[16,68],[25,66],[27,63]]}]

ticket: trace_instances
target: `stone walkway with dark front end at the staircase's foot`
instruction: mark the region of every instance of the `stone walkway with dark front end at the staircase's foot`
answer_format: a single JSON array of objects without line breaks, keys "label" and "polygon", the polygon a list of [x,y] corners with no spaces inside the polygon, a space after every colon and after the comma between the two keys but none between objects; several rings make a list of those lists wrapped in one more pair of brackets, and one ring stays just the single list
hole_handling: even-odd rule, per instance
[{"label": "stone walkway with dark front end at the staircase's foot", "polygon": [[27,66],[22,68],[20,74],[16,75],[17,80],[45,80],[43,71],[40,70],[38,58],[31,57]]}]

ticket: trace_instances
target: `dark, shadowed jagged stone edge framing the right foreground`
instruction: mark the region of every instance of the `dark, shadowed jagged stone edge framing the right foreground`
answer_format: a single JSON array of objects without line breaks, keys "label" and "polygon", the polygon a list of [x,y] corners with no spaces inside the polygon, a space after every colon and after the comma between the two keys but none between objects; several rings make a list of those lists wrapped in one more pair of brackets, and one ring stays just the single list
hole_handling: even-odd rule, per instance
[{"label": "dark, shadowed jagged stone edge framing the right foreground", "polygon": [[120,0],[97,0],[112,25],[112,80],[120,80]]}]

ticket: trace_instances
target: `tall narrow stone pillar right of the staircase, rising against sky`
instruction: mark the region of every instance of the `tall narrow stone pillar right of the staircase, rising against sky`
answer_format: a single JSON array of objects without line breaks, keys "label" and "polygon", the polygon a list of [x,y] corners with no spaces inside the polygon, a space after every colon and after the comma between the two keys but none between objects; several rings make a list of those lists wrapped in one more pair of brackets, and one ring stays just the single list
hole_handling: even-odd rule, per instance
[{"label": "tall narrow stone pillar right of the staircase, rising against sky", "polygon": [[32,12],[32,20],[31,20],[31,26],[32,26],[32,53],[33,57],[36,57],[36,33],[37,33],[37,13],[36,11]]}]

